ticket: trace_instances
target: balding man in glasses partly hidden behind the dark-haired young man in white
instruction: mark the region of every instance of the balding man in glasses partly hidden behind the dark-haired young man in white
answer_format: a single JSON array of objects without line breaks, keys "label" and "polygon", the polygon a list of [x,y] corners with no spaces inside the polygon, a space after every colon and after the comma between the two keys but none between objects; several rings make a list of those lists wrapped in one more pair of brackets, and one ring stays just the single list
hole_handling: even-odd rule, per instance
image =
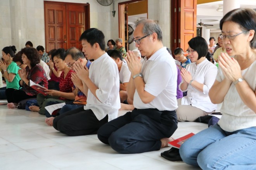
[{"label": "balding man in glasses partly hidden behind the dark-haired young man in white", "polygon": [[[74,62],[78,61],[82,64],[82,66],[86,66],[87,68],[90,68],[91,62],[87,60],[84,56],[84,54],[77,48],[73,47],[67,50],[65,53],[65,62],[69,68],[73,68]],[[63,114],[69,110],[74,110],[80,107],[83,107],[86,105],[86,95],[84,94],[84,88],[83,88],[83,82],[78,78],[76,73],[72,73],[71,80],[74,83],[73,87],[73,93],[75,95],[75,100],[73,104],[66,104],[64,105],[61,110],[57,112],[56,115],[50,115],[47,110],[45,110],[45,123],[48,124],[48,126],[52,126],[53,119],[56,116],[59,116],[60,114]],[[81,89],[81,90],[80,90]],[[84,91],[84,92],[83,92]],[[51,104],[57,104],[56,102],[48,102],[47,105]]]}]

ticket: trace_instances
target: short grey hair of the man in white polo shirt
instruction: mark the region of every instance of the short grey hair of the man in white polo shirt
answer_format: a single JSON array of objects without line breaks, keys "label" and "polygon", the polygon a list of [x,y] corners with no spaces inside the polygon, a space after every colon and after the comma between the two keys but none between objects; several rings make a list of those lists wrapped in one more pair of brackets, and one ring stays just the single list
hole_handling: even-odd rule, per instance
[{"label": "short grey hair of the man in white polo shirt", "polygon": [[154,20],[151,20],[151,19],[138,20],[135,24],[135,27],[137,27],[140,24],[143,25],[143,29],[142,29],[143,34],[145,34],[145,35],[150,34],[151,35],[154,32],[156,32],[157,39],[159,41],[163,41],[162,29],[159,26],[159,24],[157,24]]}]

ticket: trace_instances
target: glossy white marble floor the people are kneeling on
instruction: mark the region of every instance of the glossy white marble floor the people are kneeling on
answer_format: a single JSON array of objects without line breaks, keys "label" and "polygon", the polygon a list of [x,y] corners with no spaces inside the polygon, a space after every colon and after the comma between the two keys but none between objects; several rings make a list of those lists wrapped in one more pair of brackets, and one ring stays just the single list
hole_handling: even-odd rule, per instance
[{"label": "glossy white marble floor the people are kneeling on", "polygon": [[[124,114],[120,111],[119,114]],[[1,170],[197,170],[183,162],[170,162],[160,153],[119,154],[101,143],[97,135],[70,137],[47,126],[37,112],[0,105]],[[206,124],[179,122],[179,138],[198,133]]]}]

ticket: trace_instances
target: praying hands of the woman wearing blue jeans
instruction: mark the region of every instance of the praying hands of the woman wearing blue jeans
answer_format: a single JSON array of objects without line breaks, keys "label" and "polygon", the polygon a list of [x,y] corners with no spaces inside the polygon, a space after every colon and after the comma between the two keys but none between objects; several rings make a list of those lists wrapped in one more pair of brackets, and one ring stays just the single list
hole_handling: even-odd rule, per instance
[{"label": "praying hands of the woman wearing blue jeans", "polygon": [[239,63],[235,58],[230,58],[227,53],[221,53],[221,56],[218,58],[218,63],[223,75],[227,80],[230,80],[230,83],[242,77]]}]

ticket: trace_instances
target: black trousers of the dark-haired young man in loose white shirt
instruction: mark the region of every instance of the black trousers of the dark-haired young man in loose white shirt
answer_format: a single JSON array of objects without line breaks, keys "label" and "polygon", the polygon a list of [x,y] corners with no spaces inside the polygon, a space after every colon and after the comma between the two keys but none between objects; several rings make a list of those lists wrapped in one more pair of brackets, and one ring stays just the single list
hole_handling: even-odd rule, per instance
[{"label": "black trousers of the dark-haired young man in loose white shirt", "polygon": [[98,129],[107,121],[108,116],[99,121],[92,110],[81,107],[55,117],[53,127],[68,136],[81,136],[97,134]]}]

